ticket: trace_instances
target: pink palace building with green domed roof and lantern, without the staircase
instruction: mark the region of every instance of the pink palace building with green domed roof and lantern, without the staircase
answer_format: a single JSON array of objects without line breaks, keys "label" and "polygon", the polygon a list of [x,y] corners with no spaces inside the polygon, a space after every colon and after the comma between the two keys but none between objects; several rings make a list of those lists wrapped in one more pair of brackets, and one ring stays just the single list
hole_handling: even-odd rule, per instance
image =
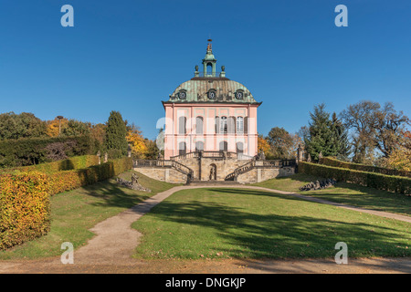
[{"label": "pink palace building with green domed roof and lantern, without the staircase", "polygon": [[258,154],[257,109],[261,102],[241,83],[216,72],[216,57],[208,40],[203,72],[182,83],[167,101],[164,159],[194,151]]}]

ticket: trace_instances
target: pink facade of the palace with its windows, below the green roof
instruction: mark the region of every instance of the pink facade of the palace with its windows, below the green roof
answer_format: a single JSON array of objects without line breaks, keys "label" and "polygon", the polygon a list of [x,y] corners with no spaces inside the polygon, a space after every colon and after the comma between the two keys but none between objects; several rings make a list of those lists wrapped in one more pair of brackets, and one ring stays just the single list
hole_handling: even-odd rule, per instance
[{"label": "pink facade of the palace with its windows, below the green roof", "polygon": [[257,155],[257,108],[250,104],[164,104],[164,159],[201,150]]}]

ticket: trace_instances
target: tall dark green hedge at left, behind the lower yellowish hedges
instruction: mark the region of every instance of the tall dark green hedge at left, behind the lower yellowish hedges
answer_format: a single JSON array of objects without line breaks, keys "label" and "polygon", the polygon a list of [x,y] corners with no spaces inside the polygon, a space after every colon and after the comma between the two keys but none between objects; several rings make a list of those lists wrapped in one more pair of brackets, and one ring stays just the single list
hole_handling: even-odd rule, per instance
[{"label": "tall dark green hedge at left, behind the lower yellowish hedges", "polygon": [[17,167],[50,162],[47,145],[75,145],[65,153],[68,157],[94,154],[96,142],[90,136],[30,138],[0,141],[0,167]]}]

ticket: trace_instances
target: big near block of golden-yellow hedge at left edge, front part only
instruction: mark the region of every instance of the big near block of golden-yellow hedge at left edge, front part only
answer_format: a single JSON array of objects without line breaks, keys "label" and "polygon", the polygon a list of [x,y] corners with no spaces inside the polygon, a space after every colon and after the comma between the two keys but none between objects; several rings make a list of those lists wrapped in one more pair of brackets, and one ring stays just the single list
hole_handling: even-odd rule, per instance
[{"label": "big near block of golden-yellow hedge at left edge, front part only", "polygon": [[0,250],[46,235],[49,184],[42,172],[0,176]]}]

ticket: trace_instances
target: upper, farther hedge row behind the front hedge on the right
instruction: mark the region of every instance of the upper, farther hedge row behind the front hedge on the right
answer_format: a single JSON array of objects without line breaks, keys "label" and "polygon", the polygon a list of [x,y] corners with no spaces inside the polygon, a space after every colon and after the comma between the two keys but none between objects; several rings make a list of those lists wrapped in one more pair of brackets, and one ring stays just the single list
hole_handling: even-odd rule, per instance
[{"label": "upper, farther hedge row behind the front hedge on the right", "polygon": [[360,163],[342,162],[332,157],[323,157],[320,159],[320,163],[328,166],[334,166],[339,168],[347,168],[350,170],[360,171],[360,172],[376,172],[385,175],[395,175],[395,176],[406,176],[411,177],[411,172],[398,171],[393,169],[388,169],[384,167],[377,167],[372,165],[365,165]]}]

